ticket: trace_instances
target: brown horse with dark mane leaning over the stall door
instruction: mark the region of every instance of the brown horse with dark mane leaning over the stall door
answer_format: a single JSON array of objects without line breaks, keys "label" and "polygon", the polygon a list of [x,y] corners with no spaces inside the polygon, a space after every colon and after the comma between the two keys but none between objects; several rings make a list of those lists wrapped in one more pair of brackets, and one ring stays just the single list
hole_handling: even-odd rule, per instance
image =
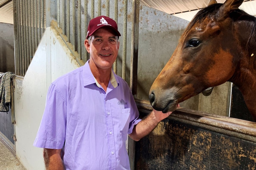
[{"label": "brown horse with dark mane leaning over the stall door", "polygon": [[156,110],[177,104],[203,90],[235,83],[256,120],[256,19],[238,9],[243,0],[226,0],[200,10],[151,86]]}]

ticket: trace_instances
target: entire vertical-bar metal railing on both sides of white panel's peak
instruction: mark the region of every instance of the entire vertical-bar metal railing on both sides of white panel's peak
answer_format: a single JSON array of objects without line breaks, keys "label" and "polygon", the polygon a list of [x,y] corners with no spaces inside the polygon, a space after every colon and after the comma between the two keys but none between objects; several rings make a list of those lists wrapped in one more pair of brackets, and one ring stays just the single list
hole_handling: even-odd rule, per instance
[{"label": "entire vertical-bar metal railing on both sides of white panel's peak", "polygon": [[[124,80],[127,77],[127,46],[130,44],[127,45],[127,35],[131,35],[129,37],[132,41],[130,85],[131,88],[136,89],[139,3],[139,0],[13,0],[16,75],[25,76],[44,30],[51,24],[59,30],[62,39],[77,58],[80,66],[83,65],[89,59],[84,48],[88,23],[94,17],[105,15],[118,23],[119,32],[123,30],[122,49],[119,49],[118,54],[121,56],[119,57],[121,69],[117,66],[116,60],[113,70],[115,73],[121,72],[120,75]],[[128,26],[127,11],[132,14],[129,16]],[[131,32],[127,33],[127,29]],[[134,95],[136,95],[136,90],[132,90]]]}]

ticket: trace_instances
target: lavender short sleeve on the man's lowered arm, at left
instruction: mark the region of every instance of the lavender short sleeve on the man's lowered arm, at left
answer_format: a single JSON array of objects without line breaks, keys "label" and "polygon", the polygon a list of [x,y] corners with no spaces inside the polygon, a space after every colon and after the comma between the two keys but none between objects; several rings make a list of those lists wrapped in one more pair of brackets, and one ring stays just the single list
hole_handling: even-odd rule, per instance
[{"label": "lavender short sleeve on the man's lowered arm, at left", "polygon": [[66,112],[67,101],[63,98],[59,88],[51,84],[34,146],[49,149],[61,149],[63,147],[66,135]]}]

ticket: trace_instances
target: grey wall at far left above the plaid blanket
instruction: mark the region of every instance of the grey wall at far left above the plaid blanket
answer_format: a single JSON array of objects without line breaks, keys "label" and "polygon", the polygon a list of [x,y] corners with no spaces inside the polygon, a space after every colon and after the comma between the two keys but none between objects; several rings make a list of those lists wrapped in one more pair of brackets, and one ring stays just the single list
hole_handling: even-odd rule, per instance
[{"label": "grey wall at far left above the plaid blanket", "polygon": [[13,24],[0,22],[0,72],[15,72]]}]

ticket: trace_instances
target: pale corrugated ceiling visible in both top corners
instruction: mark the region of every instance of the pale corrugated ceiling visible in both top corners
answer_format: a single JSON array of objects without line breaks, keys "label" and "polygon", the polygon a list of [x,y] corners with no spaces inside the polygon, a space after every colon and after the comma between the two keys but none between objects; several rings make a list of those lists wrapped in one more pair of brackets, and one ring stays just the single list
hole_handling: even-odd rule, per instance
[{"label": "pale corrugated ceiling visible in both top corners", "polygon": [[[0,4],[10,0],[0,0]],[[208,5],[210,0],[140,0],[140,4],[158,9],[190,21],[194,15]],[[224,3],[225,0],[216,0]],[[256,16],[256,0],[245,0],[240,6],[247,13]],[[0,8],[0,22],[13,24],[12,1]]]}]

